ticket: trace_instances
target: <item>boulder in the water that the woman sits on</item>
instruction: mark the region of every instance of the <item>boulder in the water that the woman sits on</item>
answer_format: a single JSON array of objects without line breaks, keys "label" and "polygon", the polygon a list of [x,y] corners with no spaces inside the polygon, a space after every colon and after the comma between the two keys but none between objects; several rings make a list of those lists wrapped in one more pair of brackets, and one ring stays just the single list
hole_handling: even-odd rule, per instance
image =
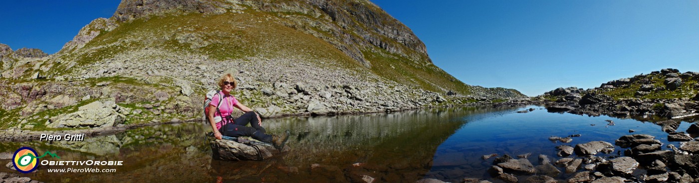
[{"label": "boulder in the water that the woman sits on", "polygon": [[289,151],[289,146],[282,150],[265,145],[247,145],[230,140],[216,140],[209,137],[209,145],[213,159],[223,161],[261,160],[273,157],[275,154]]}]

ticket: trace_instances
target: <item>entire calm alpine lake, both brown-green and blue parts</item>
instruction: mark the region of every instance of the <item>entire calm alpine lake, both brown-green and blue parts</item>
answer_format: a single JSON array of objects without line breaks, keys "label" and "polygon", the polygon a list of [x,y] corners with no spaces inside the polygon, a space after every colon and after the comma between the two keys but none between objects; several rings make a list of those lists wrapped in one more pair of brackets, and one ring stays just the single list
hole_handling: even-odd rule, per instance
[{"label": "entire calm alpine lake, both brown-green and blue parts", "polygon": [[[528,113],[517,113],[535,109]],[[615,125],[607,125],[613,120]],[[691,122],[682,122],[684,131]],[[493,158],[487,154],[531,153],[529,161],[538,165],[538,155],[552,161],[556,146],[590,141],[614,143],[628,134],[649,134],[663,143],[668,134],[652,122],[609,116],[579,116],[549,113],[542,106],[493,108],[459,106],[394,113],[352,116],[287,117],[263,120],[271,134],[291,130],[289,152],[262,161],[212,160],[205,134],[207,124],[185,122],[130,129],[106,136],[88,136],[82,142],[30,141],[0,142],[0,152],[20,147],[34,148],[39,155],[50,151],[56,157],[39,161],[123,161],[122,166],[39,166],[33,173],[19,173],[2,167],[0,172],[15,173],[41,182],[415,182],[434,178],[462,182],[490,177],[487,170]],[[629,132],[633,129],[635,132]],[[566,137],[572,142],[549,141],[549,136]],[[624,148],[614,147],[618,156]],[[623,154],[623,153],[622,153]],[[10,159],[2,159],[6,165]],[[11,164],[10,164],[11,166]],[[48,168],[114,168],[114,173],[49,173]],[[565,172],[563,168],[559,170]],[[579,170],[582,171],[582,170]],[[571,174],[561,173],[557,180]],[[520,177],[524,180],[525,177]]]}]

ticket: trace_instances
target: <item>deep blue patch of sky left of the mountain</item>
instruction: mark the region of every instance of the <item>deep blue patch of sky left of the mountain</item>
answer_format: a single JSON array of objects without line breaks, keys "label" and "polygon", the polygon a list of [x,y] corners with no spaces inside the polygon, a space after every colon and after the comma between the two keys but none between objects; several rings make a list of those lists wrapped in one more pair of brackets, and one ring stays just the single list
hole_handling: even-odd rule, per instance
[{"label": "deep blue patch of sky left of the mountain", "polygon": [[55,54],[93,19],[112,17],[120,2],[3,1],[0,6],[0,43],[13,50],[38,48],[47,54]]}]

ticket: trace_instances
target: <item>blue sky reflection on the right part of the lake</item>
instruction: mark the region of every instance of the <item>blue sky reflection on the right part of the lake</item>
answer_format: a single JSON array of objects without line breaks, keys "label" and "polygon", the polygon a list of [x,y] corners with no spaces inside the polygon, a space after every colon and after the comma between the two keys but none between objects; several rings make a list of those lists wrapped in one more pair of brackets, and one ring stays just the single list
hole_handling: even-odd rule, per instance
[{"label": "blue sky reflection on the right part of the lake", "polygon": [[[539,108],[538,106],[527,106]],[[518,111],[519,111],[518,110]],[[545,154],[556,161],[556,146],[587,143],[590,141],[607,141],[614,143],[619,137],[628,134],[650,134],[656,136],[663,144],[679,145],[679,142],[667,141],[665,132],[661,127],[652,122],[641,122],[633,119],[618,119],[608,116],[579,116],[570,113],[548,113],[544,110],[535,110],[529,113],[488,113],[483,115],[464,116],[461,120],[467,121],[454,135],[445,140],[435,151],[434,163],[426,177],[445,180],[447,182],[459,182],[464,177],[487,178],[486,170],[492,166],[492,160],[484,160],[481,157],[486,154],[509,154],[516,157],[519,154],[532,153],[528,157],[534,166],[538,165],[538,155]],[[485,116],[486,118],[482,118]],[[487,118],[493,117],[496,118]],[[605,120],[614,120],[616,125],[607,125]],[[691,125],[682,122],[679,131],[684,131]],[[629,129],[635,132],[628,132]],[[570,143],[549,141],[549,136],[572,137]],[[665,148],[663,145],[663,149]],[[615,146],[618,152],[623,148]],[[598,154],[600,155],[600,154]],[[601,154],[605,156],[604,154]],[[617,155],[617,153],[606,156]],[[570,174],[561,174],[557,178],[565,180]],[[491,180],[501,182],[500,180]]]}]

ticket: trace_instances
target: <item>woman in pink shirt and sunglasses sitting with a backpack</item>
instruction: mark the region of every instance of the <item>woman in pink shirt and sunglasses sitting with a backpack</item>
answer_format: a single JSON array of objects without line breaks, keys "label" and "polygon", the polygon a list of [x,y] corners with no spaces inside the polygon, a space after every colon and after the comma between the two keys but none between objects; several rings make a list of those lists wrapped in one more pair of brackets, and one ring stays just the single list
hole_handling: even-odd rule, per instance
[{"label": "woman in pink shirt and sunglasses sitting with a backpack", "polygon": [[[287,129],[283,136],[265,134],[266,130],[261,126],[262,120],[259,115],[238,102],[236,97],[231,95],[231,90],[238,86],[238,81],[233,78],[233,74],[224,74],[219,79],[218,85],[221,87],[221,92],[211,98],[211,103],[208,106],[209,113],[207,114],[216,139],[220,140],[222,135],[232,137],[251,136],[258,141],[272,143],[276,148],[284,148],[284,143],[289,139],[289,130]],[[218,109],[216,109],[217,106]],[[245,114],[233,119],[233,116],[231,116],[233,107],[240,109]],[[252,127],[247,127],[248,123]]]}]

